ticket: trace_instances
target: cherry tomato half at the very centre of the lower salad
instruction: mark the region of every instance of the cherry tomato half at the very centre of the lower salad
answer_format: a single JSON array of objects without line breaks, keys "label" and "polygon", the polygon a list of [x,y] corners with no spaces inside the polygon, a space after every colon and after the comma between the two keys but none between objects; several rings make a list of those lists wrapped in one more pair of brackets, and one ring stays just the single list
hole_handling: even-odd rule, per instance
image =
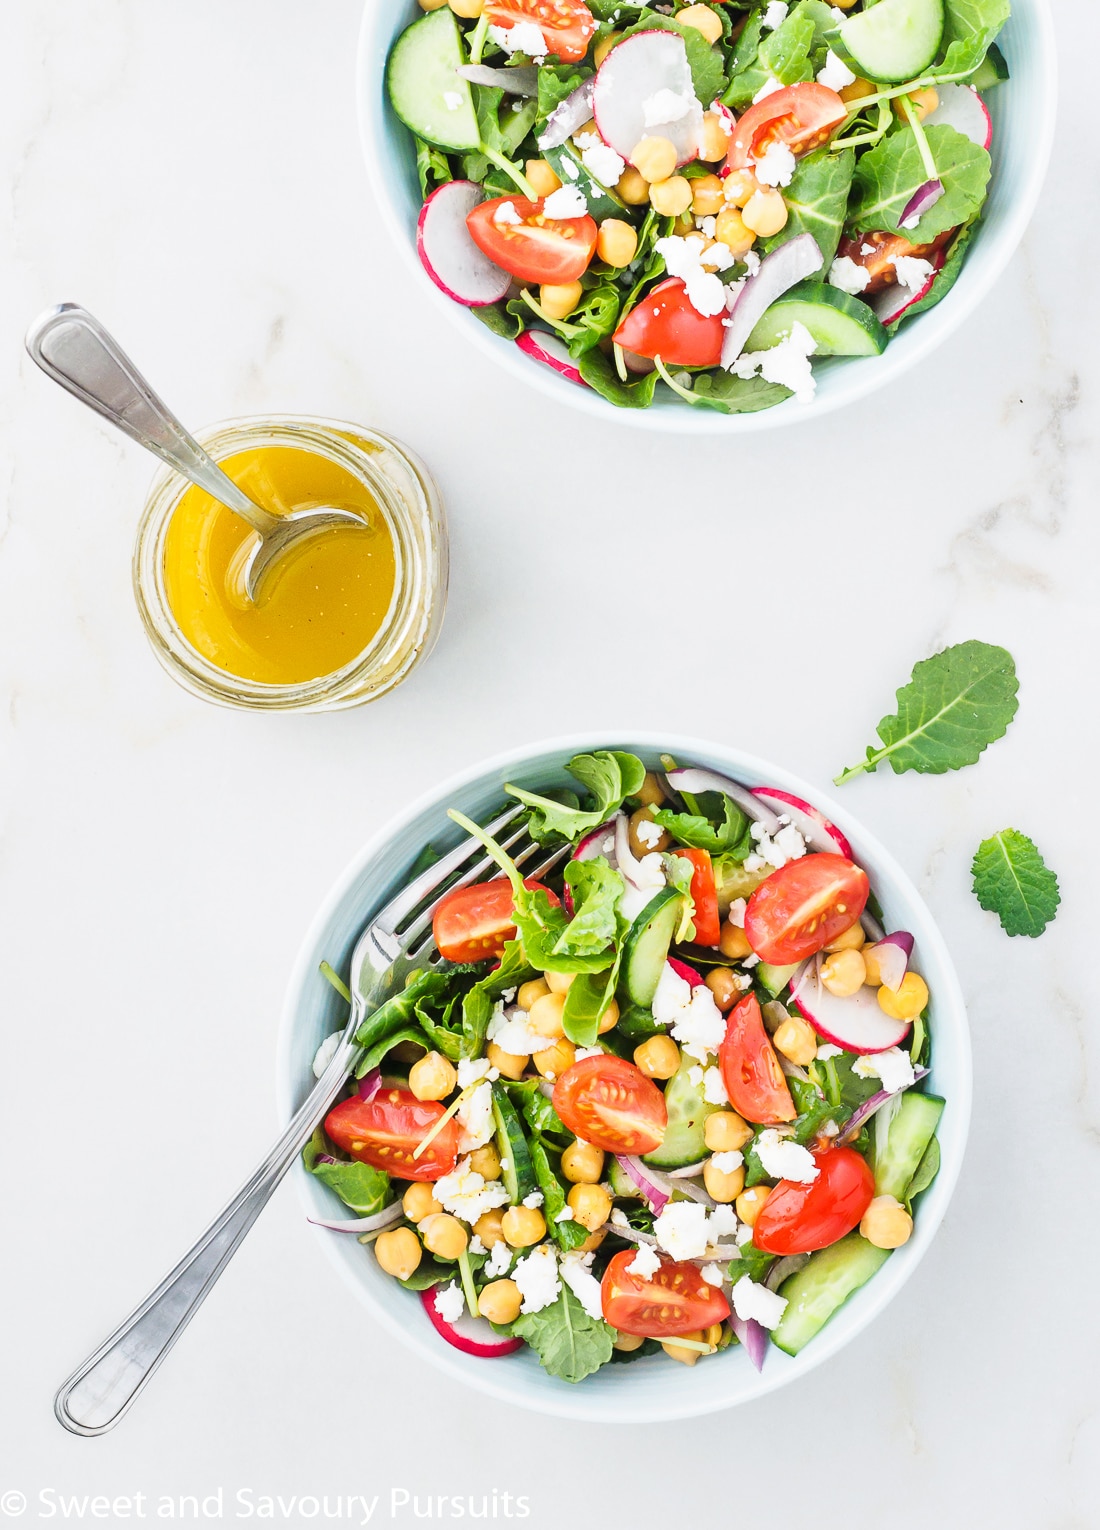
[{"label": "cherry tomato half at the very centre of the lower salad", "polygon": [[604,1152],[644,1154],[661,1146],[669,1111],[658,1086],[623,1057],[583,1057],[554,1085],[565,1125]]}]

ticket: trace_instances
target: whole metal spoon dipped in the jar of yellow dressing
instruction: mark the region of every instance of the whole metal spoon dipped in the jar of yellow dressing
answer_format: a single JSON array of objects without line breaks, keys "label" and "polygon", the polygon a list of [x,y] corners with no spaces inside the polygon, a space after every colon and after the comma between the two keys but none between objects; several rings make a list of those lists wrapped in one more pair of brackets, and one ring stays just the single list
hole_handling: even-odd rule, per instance
[{"label": "whole metal spoon dipped in the jar of yellow dressing", "polygon": [[28,330],[26,349],[32,361],[81,404],[248,522],[255,540],[240,563],[240,581],[251,601],[272,563],[292,545],[335,526],[366,529],[364,519],[350,509],[324,506],[272,516],[251,500],[165,409],[118,341],[87,309],[75,303],[49,309]]}]

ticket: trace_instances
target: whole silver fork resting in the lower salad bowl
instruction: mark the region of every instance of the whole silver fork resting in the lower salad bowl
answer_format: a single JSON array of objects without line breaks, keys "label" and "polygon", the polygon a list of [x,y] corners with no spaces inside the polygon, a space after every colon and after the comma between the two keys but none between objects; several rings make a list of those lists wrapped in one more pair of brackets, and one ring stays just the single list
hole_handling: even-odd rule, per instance
[{"label": "whole silver fork resting in the lower salad bowl", "polygon": [[[517,866],[529,868],[528,875],[545,877],[568,846],[543,854],[531,864],[542,846],[523,825],[517,826],[522,811],[511,808],[487,825],[487,831],[497,837]],[[390,898],[367,924],[352,952],[352,1014],[332,1060],[255,1174],[194,1247],[63,1383],[54,1411],[66,1429],[101,1435],[132,1408],[358,1066],[364,1048],[355,1037],[363,1021],[404,987],[410,972],[444,965],[431,935],[434,906],[445,892],[479,881],[493,871],[493,860],[470,837]]]}]

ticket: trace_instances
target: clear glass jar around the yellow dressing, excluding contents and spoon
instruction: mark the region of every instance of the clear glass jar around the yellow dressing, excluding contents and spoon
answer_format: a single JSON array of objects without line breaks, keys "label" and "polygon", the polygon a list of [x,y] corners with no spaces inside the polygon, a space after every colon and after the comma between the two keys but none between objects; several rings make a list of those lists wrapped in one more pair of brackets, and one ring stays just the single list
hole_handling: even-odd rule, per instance
[{"label": "clear glass jar around the yellow dressing, excluding contents and spoon", "polygon": [[399,685],[434,647],[447,604],[447,522],[424,464],[381,431],[304,415],[229,419],[197,439],[216,462],[240,451],[291,447],[352,474],[370,493],[389,528],[396,577],[378,632],[343,669],[292,684],[231,675],[188,643],[168,603],[165,539],[190,483],[165,468],[148,491],[133,552],[138,610],[164,669],[193,696],[248,711],[335,711],[376,701]]}]

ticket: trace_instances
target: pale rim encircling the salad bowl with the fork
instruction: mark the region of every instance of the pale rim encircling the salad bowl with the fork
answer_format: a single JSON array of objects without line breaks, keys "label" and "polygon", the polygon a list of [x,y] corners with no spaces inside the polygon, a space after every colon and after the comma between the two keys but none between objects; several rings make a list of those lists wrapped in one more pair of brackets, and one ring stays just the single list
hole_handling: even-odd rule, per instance
[{"label": "pale rim encircling the salad bowl with the fork", "polygon": [[[528,1380],[528,1372],[509,1371],[503,1366],[497,1371],[490,1362],[485,1362],[480,1369],[471,1372],[464,1363],[454,1359],[457,1351],[442,1342],[430,1323],[425,1322],[424,1325],[408,1327],[395,1320],[381,1302],[375,1299],[369,1282],[358,1273],[353,1273],[347,1264],[338,1258],[337,1247],[332,1244],[332,1233],[327,1233],[324,1229],[315,1229],[317,1241],[321,1245],[326,1262],[334,1264],[340,1270],[347,1285],[356,1293],[360,1300],[366,1304],[373,1317],[389,1328],[390,1333],[396,1334],[402,1343],[408,1345],[408,1348],[415,1349],[431,1365],[448,1372],[453,1379],[473,1386],[499,1401],[520,1403],[535,1412],[551,1414],[560,1418],[584,1420],[592,1423],[670,1423],[678,1418],[693,1418],[699,1414],[713,1412],[716,1406],[733,1408],[739,1403],[765,1397],[768,1392],[777,1391],[789,1382],[806,1375],[818,1365],[823,1365],[825,1360],[858,1337],[874,1322],[874,1319],[886,1307],[889,1307],[903,1285],[906,1285],[909,1278],[918,1268],[932,1245],[947,1206],[950,1204],[952,1195],[955,1193],[955,1186],[965,1157],[973,1100],[973,1068],[965,999],[955,972],[955,964],[939,927],[932,916],[932,910],[924,903],[924,898],[921,898],[907,872],[893,858],[890,851],[887,851],[874,834],[864,829],[864,826],[843,805],[838,805],[828,794],[818,791],[811,782],[803,780],[800,776],[794,776],[782,767],[774,767],[771,762],[760,759],[756,754],[750,754],[731,745],[713,744],[707,739],[664,731],[650,733],[646,728],[636,731],[629,728],[607,728],[606,731],[598,733],[586,731],[535,739],[523,747],[500,751],[461,771],[454,771],[431,789],[421,793],[360,848],[360,851],[347,861],[343,872],[337,877],[312,923],[309,924],[294,959],[280,1017],[275,1054],[277,1105],[280,1120],[289,1120],[297,1103],[291,1053],[298,1025],[304,985],[315,978],[317,947],[320,944],[320,938],[326,932],[332,916],[344,904],[344,900],[366,868],[370,864],[372,858],[404,829],[407,829],[422,812],[445,809],[447,800],[462,788],[485,777],[516,770],[516,767],[523,765],[532,756],[557,754],[561,760],[565,760],[572,754],[591,748],[641,748],[652,754],[673,753],[681,759],[693,759],[699,756],[724,757],[728,760],[730,770],[744,771],[750,779],[756,779],[759,783],[774,783],[783,789],[796,793],[800,797],[805,797],[806,802],[812,802],[814,806],[817,806],[837,825],[837,828],[843,829],[849,838],[855,840],[861,852],[871,852],[874,855],[880,868],[877,874],[880,883],[903,889],[909,901],[921,915],[926,927],[919,932],[918,939],[926,952],[933,953],[935,962],[941,972],[941,976],[936,979],[936,1010],[939,1016],[938,1027],[942,1027],[944,1024],[953,1025],[956,1028],[958,1039],[958,1076],[952,1080],[950,1091],[950,1106],[955,1115],[955,1131],[950,1141],[953,1141],[955,1146],[950,1154],[944,1154],[939,1174],[933,1180],[932,1186],[924,1192],[921,1216],[916,1219],[916,1230],[912,1241],[906,1245],[910,1250],[909,1256],[897,1264],[892,1259],[887,1261],[874,1281],[861,1287],[858,1293],[854,1293],[858,1302],[858,1320],[851,1333],[835,1330],[832,1336],[829,1336],[829,1325],[826,1323],[826,1327],[815,1336],[814,1343],[794,1357],[789,1365],[782,1368],[773,1366],[771,1372],[753,1372],[753,1391],[748,1397],[730,1397],[727,1401],[716,1403],[711,1395],[704,1395],[695,1401],[688,1389],[682,1398],[676,1398],[673,1401],[670,1395],[667,1403],[652,1406],[638,1397],[632,1401],[632,1392],[627,1388],[623,1388],[621,1397],[615,1398],[607,1397],[603,1391],[595,1395],[586,1394],[584,1383],[572,1386],[568,1392],[549,1386],[542,1391],[539,1382],[532,1383]],[[389,897],[389,890],[382,889],[379,900],[384,901],[386,897]],[[295,1160],[292,1169],[298,1198],[306,1212],[311,1212],[311,1177],[303,1169],[300,1158]],[[462,1359],[465,1360],[467,1357]],[[543,1379],[542,1371],[537,1374]],[[499,1380],[494,1380],[494,1377],[499,1377]],[[549,1382],[551,1379],[545,1377],[545,1380]]]}]

